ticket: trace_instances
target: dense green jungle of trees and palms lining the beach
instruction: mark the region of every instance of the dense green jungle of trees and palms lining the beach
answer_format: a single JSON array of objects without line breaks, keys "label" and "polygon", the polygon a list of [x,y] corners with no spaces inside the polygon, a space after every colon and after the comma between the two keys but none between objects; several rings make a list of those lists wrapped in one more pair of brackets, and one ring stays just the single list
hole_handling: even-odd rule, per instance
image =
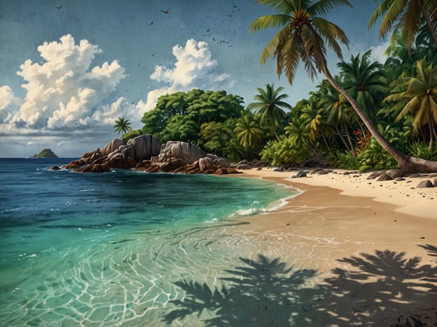
[{"label": "dense green jungle of trees and palms lining the beach", "polygon": [[[281,2],[258,1],[273,3],[271,6]],[[325,2],[329,1],[317,3]],[[370,23],[383,14],[382,9],[387,8],[384,5],[394,2],[383,1]],[[435,30],[437,6],[429,3],[428,20]],[[286,103],[287,96],[282,94],[281,87],[275,89],[269,84],[258,87],[254,103],[247,108],[242,106],[240,96],[193,89],[161,96],[155,108],[144,114],[143,129],[129,131],[123,138],[151,133],[162,142],[195,143],[233,161],[258,158],[275,165],[315,161],[361,170],[397,167],[398,162],[382,148],[346,99],[352,96],[391,145],[408,156],[437,161],[437,45],[429,22],[420,17],[413,41],[408,34],[411,28],[404,31],[401,23],[394,25],[384,64],[370,61],[370,51],[340,60],[340,73],[333,81],[322,80],[307,99],[293,107]],[[265,28],[262,22],[254,22],[260,24],[254,29]],[[383,32],[387,33],[386,29]],[[270,50],[271,54],[263,52],[263,56],[279,55],[277,48]],[[311,55],[310,66],[305,64],[310,75],[324,70],[323,62],[321,66],[311,66],[319,54]],[[333,84],[340,85],[347,94],[341,94]]]}]

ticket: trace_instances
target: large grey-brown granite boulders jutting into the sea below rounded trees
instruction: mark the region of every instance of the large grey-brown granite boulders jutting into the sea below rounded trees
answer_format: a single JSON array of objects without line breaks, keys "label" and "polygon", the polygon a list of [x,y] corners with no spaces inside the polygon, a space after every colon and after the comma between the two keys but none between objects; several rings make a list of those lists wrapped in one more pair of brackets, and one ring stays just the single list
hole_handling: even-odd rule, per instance
[{"label": "large grey-brown granite boulders jutting into the sea below rounded trees", "polygon": [[63,168],[78,173],[101,173],[111,168],[134,168],[149,173],[237,173],[227,159],[207,154],[191,143],[169,141],[162,145],[152,135],[138,136],[127,143],[114,139],[102,150],[97,147]]}]

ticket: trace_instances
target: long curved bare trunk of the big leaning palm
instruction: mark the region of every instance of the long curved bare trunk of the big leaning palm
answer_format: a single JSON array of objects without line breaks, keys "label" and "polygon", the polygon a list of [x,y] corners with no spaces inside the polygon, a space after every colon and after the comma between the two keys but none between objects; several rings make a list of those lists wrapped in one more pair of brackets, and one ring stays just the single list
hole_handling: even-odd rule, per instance
[{"label": "long curved bare trunk of the big leaning palm", "polygon": [[326,66],[326,61],[321,63],[321,71],[326,76],[328,82],[330,82],[331,85],[338,92],[340,92],[343,96],[345,96],[347,101],[349,101],[349,103],[351,104],[352,108],[354,108],[356,114],[359,115],[363,123],[366,125],[368,131],[370,131],[370,133],[373,135],[377,143],[379,143],[382,146],[382,148],[386,150],[391,155],[391,157],[393,157],[394,160],[396,160],[401,170],[411,171],[411,172],[422,171],[427,173],[437,173],[437,161],[429,161],[416,157],[409,157],[407,154],[401,152],[396,147],[394,147],[394,145],[389,143],[387,138],[385,138],[382,135],[382,133],[380,133],[380,131],[377,130],[375,124],[373,124],[373,122],[366,115],[366,112],[364,112],[363,109],[361,109],[361,107],[355,101],[355,99],[352,98],[352,96],[350,96],[345,91],[345,89],[343,89],[338,84],[337,81],[335,81],[335,79],[333,78],[333,76],[328,70],[328,66]]}]

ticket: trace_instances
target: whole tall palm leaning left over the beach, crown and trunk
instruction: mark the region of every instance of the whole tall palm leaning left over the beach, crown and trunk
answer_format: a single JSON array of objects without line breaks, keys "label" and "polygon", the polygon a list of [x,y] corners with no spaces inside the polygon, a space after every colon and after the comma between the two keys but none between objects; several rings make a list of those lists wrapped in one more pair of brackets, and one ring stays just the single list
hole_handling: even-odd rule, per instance
[{"label": "whole tall palm leaning left over the beach, crown and trunk", "polygon": [[[303,61],[305,69],[311,78],[319,73],[324,73],[326,79],[340,92],[354,108],[368,131],[377,143],[393,157],[398,166],[403,170],[437,171],[436,161],[408,157],[399,151],[384,138],[375,124],[368,118],[366,112],[359,106],[352,96],[333,78],[328,70],[326,61],[326,43],[342,59],[342,51],[337,42],[345,45],[349,41],[345,32],[337,25],[328,22],[317,15],[323,15],[335,5],[345,4],[351,6],[347,0],[258,0],[257,3],[274,8],[278,14],[258,17],[252,22],[250,31],[258,31],[269,27],[282,27],[274,38],[268,43],[261,53],[261,64],[271,57],[277,59],[277,74],[280,76],[285,71],[289,83],[292,84],[296,70]],[[326,43],[325,43],[326,40]]]}]

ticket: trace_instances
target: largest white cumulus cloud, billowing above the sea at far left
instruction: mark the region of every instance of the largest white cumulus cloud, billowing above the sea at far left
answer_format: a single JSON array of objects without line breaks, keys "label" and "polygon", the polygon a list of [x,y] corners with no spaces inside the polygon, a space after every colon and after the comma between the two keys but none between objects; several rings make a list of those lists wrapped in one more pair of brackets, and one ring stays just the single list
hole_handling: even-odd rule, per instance
[{"label": "largest white cumulus cloud, billowing above the sea at far left", "polygon": [[25,80],[25,99],[1,87],[0,124],[13,124],[21,131],[64,131],[88,123],[113,126],[117,117],[132,111],[125,99],[102,105],[125,78],[125,68],[116,60],[92,66],[102,52],[97,45],[87,40],[76,44],[68,34],[59,42],[44,42],[38,51],[43,62],[27,59],[17,73]]}]

